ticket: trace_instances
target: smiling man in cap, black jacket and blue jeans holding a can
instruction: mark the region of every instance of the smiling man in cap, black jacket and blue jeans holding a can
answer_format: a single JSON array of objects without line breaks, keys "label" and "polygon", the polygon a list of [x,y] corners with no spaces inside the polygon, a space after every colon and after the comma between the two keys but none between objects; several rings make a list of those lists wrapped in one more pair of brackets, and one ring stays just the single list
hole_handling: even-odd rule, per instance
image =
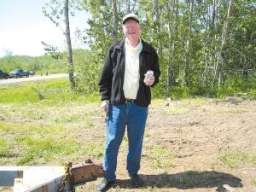
[{"label": "smiling man in cap, black jacket and blue jeans holding a can", "polygon": [[[103,168],[107,172],[98,191],[105,191],[115,182],[119,146],[127,135],[129,151],[126,169],[131,182],[143,184],[137,175],[140,169],[143,135],[151,101],[150,87],[157,84],[160,76],[158,55],[154,48],[140,38],[141,26],[137,15],[123,18],[125,39],[113,44],[102,69],[99,82],[102,96],[101,108],[108,114],[107,138]],[[145,73],[154,75],[145,79]]]}]

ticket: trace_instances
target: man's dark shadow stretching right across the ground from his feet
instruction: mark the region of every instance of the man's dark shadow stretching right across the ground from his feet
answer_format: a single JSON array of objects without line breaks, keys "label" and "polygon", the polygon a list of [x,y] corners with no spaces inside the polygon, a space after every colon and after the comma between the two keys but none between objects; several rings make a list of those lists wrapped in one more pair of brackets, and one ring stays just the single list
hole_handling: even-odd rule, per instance
[{"label": "man's dark shadow stretching right across the ground from his feet", "polygon": [[[224,172],[179,172],[175,174],[140,175],[145,185],[143,188],[215,188],[216,191],[229,191],[227,188],[241,188],[243,185],[239,177]],[[132,189],[131,180],[117,180],[120,189]]]}]

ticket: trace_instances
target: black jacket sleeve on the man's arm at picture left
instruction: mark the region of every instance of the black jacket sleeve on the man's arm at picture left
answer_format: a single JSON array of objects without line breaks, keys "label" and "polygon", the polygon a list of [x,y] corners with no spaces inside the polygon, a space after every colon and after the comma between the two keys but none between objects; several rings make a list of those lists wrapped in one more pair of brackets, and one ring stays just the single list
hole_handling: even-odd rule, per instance
[{"label": "black jacket sleeve on the man's arm at picture left", "polygon": [[102,74],[98,84],[102,101],[103,100],[109,101],[111,97],[111,87],[112,87],[112,78],[113,78],[111,53],[112,53],[112,47],[108,49],[108,54],[106,56],[104,66],[102,68]]}]

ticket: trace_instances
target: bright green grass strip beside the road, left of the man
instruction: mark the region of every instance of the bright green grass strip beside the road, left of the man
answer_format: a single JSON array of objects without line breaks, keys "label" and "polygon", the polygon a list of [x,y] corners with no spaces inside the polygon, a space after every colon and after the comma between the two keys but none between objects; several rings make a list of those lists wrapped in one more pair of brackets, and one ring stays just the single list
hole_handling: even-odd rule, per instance
[{"label": "bright green grass strip beside the road, left of the man", "polygon": [[49,79],[0,86],[0,103],[65,105],[71,102],[99,102],[99,96],[84,96],[70,90],[68,79]]}]

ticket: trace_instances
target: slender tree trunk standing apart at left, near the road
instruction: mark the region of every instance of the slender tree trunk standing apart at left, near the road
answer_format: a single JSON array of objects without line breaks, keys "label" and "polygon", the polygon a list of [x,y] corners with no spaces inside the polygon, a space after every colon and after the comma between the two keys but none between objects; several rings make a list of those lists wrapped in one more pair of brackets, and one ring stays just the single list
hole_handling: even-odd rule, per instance
[{"label": "slender tree trunk standing apart at left, near the road", "polygon": [[68,60],[68,74],[69,74],[69,81],[71,84],[71,89],[73,90],[75,87],[75,82],[73,78],[73,55],[72,55],[72,45],[71,45],[71,38],[70,38],[70,28],[69,28],[69,18],[68,18],[68,0],[65,0],[64,5],[64,15],[65,15],[65,24],[66,24],[66,40],[67,40],[67,60]]}]

